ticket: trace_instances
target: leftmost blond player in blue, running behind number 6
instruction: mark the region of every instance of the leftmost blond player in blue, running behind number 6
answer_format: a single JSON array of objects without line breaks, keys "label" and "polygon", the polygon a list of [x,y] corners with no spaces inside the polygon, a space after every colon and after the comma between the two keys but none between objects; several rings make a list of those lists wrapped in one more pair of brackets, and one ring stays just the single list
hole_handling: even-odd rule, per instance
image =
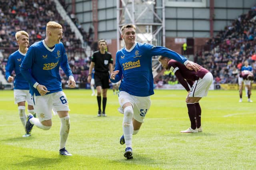
[{"label": "leftmost blond player in blue, running behind number 6", "polygon": [[[15,38],[19,45],[19,49],[12,53],[8,58],[8,63],[6,64],[6,79],[8,82],[14,81],[14,102],[18,104],[18,111],[20,115],[20,120],[25,128],[27,117],[25,113],[25,101],[28,102],[28,112],[36,115],[34,112],[33,102],[31,95],[29,93],[28,82],[24,79],[20,73],[20,64],[22,63],[27,51],[28,51],[28,33],[26,31],[18,31],[15,34]],[[15,71],[16,77],[11,75],[12,71]],[[30,134],[25,134],[23,137],[29,137]]]}]

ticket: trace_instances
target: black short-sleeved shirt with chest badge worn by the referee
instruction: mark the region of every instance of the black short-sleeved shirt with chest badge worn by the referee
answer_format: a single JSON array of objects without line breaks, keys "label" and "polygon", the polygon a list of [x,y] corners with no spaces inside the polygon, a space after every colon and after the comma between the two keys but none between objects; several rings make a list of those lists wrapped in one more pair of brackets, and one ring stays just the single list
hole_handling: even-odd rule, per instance
[{"label": "black short-sleeved shirt with chest badge worn by the referee", "polygon": [[95,51],[92,55],[92,62],[94,62],[95,72],[108,72],[108,65],[113,64],[113,59],[110,53],[107,51],[105,54],[100,53],[100,51]]}]

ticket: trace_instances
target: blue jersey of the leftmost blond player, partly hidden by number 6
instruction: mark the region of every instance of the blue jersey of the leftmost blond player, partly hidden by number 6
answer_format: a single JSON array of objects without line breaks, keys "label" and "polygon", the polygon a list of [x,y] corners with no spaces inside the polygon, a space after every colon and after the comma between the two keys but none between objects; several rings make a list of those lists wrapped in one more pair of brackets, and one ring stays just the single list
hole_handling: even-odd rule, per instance
[{"label": "blue jersey of the leftmost blond player, partly hidden by number 6", "polygon": [[16,74],[14,78],[14,89],[29,90],[28,82],[20,73],[20,65],[25,55],[26,54],[17,50],[10,55],[10,57],[8,58],[8,62],[6,64],[6,74],[5,74],[6,80],[8,80],[9,76],[11,76],[13,70],[15,71],[15,74]]}]

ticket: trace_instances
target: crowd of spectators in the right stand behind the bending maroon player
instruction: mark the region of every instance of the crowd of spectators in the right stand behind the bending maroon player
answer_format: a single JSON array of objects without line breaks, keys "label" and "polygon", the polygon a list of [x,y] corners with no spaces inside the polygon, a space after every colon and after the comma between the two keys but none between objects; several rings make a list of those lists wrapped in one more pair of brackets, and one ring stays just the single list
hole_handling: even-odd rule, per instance
[{"label": "crowd of spectators in the right stand behind the bending maroon player", "polygon": [[[209,50],[196,54],[195,61],[212,72],[215,83],[237,83],[246,60],[256,74],[256,6],[209,39],[205,46]],[[175,75],[167,73],[155,80],[158,86],[177,83]]]}]

